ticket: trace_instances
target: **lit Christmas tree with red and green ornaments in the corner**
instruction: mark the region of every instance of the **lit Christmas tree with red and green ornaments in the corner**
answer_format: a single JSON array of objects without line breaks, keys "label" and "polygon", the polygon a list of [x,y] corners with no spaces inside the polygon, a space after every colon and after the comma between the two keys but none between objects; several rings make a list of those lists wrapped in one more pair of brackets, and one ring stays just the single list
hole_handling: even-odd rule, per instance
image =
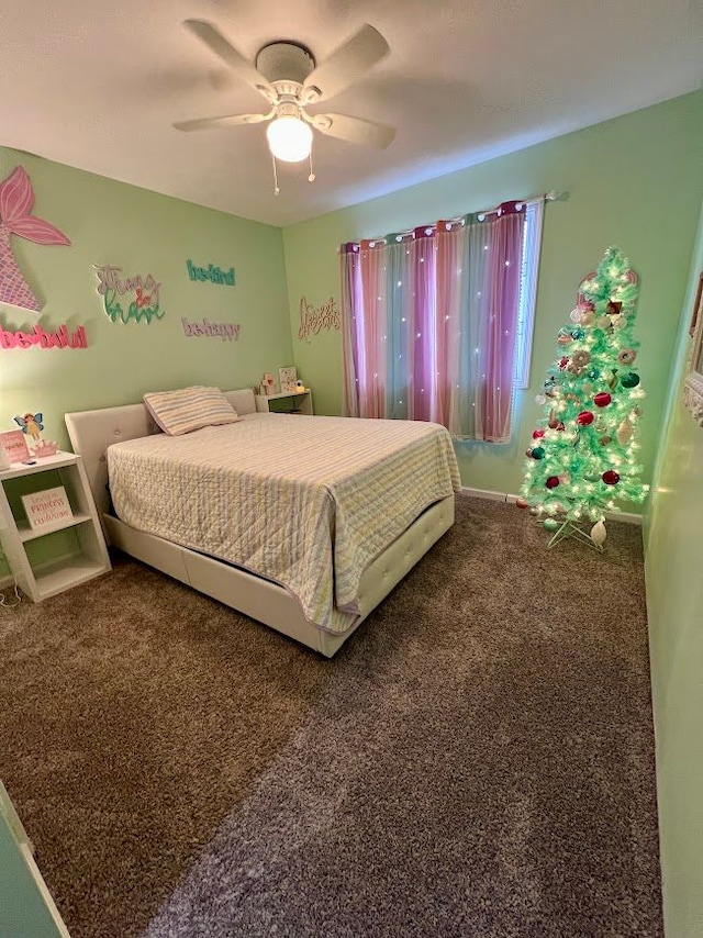
[{"label": "lit Christmas tree with red and green ornaments in the corner", "polygon": [[638,292],[629,261],[611,247],[581,282],[571,322],[559,330],[559,357],[536,399],[545,416],[532,434],[517,502],[555,532],[549,547],[573,536],[600,549],[616,500],[647,495],[636,457],[645,397],[633,336]]}]

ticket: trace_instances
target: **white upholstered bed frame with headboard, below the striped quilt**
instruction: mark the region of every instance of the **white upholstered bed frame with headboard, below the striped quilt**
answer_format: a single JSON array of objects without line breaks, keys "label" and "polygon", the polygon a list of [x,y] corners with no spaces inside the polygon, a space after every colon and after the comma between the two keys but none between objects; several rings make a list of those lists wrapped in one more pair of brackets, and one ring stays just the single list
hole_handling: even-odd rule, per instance
[{"label": "white upholstered bed frame with headboard, below the striped quilt", "polygon": [[[253,391],[227,391],[225,394],[238,413],[256,412]],[[74,451],[82,458],[109,543],[327,658],[332,658],[369,613],[454,524],[454,495],[424,511],[365,571],[359,587],[360,615],[352,627],[342,634],[325,632],[310,623],[298,600],[277,583],[137,531],[109,514],[108,447],[113,443],[159,432],[144,404],[66,414],[66,426]]]}]

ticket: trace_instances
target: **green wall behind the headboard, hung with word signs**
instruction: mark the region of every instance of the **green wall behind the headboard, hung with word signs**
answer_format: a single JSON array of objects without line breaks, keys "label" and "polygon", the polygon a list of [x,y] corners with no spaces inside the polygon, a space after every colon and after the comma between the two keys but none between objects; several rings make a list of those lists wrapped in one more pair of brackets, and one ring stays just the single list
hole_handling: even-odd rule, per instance
[{"label": "green wall behind the headboard, hung with word signs", "polygon": [[[292,364],[280,228],[0,148],[0,179],[15,166],[30,177],[33,213],[71,246],[12,236],[20,269],[45,305],[37,315],[0,303],[0,328],[83,325],[88,347],[0,348],[0,429],[18,429],[15,414],[41,411],[45,438],[69,448],[66,412],[133,403],[146,391],[189,383],[249,387],[264,371]],[[188,259],[234,267],[235,286],[191,281]],[[161,284],[164,317],[111,322],[96,290],[93,265],[104,264],[124,276],[152,273]],[[182,317],[237,323],[238,338],[187,337]],[[5,573],[0,557],[0,579]]]}]

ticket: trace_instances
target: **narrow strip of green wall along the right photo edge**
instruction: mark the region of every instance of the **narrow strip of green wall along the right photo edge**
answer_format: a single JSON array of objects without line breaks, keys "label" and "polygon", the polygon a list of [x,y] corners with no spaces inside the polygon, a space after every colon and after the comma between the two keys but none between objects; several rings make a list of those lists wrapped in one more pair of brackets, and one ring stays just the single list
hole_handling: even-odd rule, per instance
[{"label": "narrow strip of green wall along the right photo edge", "polygon": [[703,427],[681,403],[702,270],[703,208],[645,516],[667,938],[703,935]]}]

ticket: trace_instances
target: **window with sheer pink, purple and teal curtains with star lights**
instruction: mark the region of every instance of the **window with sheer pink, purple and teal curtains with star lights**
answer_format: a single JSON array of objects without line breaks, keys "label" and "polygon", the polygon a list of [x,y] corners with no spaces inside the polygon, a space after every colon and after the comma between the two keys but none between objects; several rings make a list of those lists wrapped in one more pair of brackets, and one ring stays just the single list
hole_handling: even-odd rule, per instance
[{"label": "window with sheer pink, purple and teal curtains with star lights", "polygon": [[544,199],[342,245],[349,416],[507,443],[527,386]]}]

